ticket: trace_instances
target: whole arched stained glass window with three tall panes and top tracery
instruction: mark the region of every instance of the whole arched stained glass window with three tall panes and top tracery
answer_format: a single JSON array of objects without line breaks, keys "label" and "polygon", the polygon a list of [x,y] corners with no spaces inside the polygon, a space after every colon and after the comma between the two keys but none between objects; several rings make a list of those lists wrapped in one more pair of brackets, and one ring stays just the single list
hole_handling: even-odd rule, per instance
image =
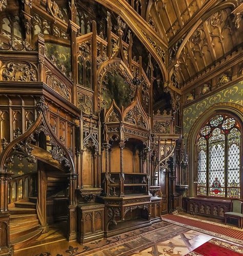
[{"label": "whole arched stained glass window with three tall panes and top tracery", "polygon": [[240,198],[240,125],[232,116],[217,114],[199,131],[197,195]]}]

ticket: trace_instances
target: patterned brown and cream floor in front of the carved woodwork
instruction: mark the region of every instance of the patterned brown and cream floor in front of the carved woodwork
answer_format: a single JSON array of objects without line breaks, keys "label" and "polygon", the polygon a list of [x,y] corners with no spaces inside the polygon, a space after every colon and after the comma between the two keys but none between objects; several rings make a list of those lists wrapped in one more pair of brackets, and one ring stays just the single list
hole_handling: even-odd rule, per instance
[{"label": "patterned brown and cream floor in front of the carved woodwork", "polygon": [[[116,256],[185,255],[212,237],[166,222],[140,228],[109,239],[80,245],[77,242],[46,243],[14,252],[14,256]],[[48,240],[47,240],[48,241]]]}]

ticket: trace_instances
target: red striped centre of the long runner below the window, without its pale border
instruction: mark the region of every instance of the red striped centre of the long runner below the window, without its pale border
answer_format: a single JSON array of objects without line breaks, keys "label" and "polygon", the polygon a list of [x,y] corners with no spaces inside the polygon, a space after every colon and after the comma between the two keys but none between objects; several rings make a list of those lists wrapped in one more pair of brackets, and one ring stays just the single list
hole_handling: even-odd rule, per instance
[{"label": "red striped centre of the long runner below the window, without its pale border", "polygon": [[235,230],[232,228],[222,227],[216,224],[210,224],[210,223],[201,222],[201,221],[194,221],[194,220],[187,219],[187,218],[184,218],[178,215],[173,215],[173,214],[163,215],[163,218],[171,221],[179,222],[185,225],[190,225],[196,228],[208,230],[214,233],[227,235],[227,237],[231,237],[231,238],[243,241],[243,231],[240,231],[240,230]]}]

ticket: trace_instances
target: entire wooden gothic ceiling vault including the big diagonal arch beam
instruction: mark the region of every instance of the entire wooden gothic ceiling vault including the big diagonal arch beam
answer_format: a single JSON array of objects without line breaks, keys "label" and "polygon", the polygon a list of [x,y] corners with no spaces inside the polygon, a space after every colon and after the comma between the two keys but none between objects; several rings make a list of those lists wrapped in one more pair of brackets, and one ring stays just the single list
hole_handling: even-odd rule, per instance
[{"label": "entire wooden gothic ceiling vault including the big diagonal arch beam", "polygon": [[242,0],[95,1],[127,22],[158,62],[164,82],[180,94],[242,47]]}]

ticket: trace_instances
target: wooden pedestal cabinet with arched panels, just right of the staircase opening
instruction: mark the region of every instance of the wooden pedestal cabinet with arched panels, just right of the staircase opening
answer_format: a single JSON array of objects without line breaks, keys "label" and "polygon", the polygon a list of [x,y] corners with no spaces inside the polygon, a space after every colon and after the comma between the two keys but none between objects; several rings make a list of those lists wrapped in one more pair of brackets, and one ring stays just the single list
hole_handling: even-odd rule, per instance
[{"label": "wooden pedestal cabinet with arched panels, just right of the staircase opening", "polygon": [[77,240],[80,244],[104,237],[104,204],[95,202],[77,206]]}]

